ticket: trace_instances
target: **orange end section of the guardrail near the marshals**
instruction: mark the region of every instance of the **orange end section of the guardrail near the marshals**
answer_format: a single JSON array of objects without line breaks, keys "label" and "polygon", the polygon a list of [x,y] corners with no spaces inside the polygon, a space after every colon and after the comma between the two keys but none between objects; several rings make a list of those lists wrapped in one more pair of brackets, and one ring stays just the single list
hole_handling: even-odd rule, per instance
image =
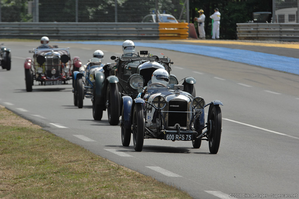
[{"label": "orange end section of the guardrail near the marshals", "polygon": [[187,39],[188,23],[159,23],[159,39]]}]

